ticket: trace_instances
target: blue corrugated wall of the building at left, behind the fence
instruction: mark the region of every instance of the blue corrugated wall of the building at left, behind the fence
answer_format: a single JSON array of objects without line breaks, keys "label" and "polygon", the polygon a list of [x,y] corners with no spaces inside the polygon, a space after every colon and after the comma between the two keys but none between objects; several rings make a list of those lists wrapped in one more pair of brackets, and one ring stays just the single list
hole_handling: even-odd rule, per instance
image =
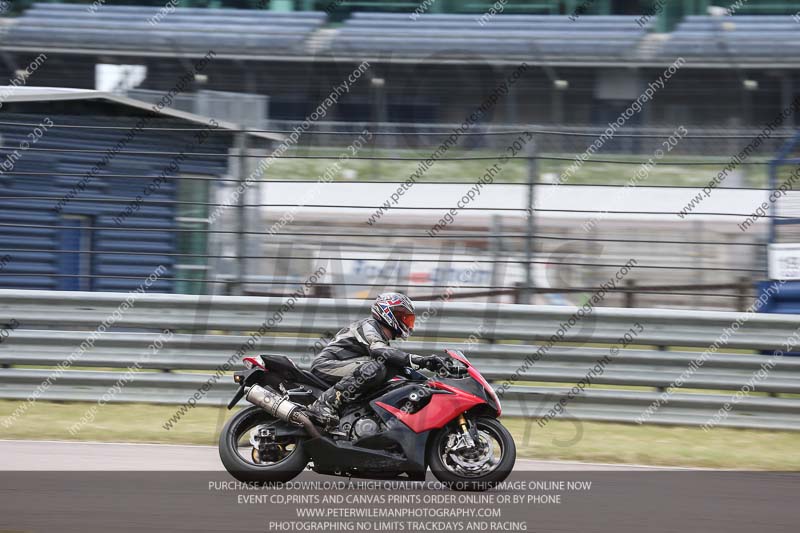
[{"label": "blue corrugated wall of the building at left, behind the fence", "polygon": [[[97,105],[109,107],[107,103]],[[63,104],[53,108],[40,104],[36,113],[30,113],[30,108],[26,104],[26,113],[0,114],[1,122],[15,123],[0,124],[0,256],[10,256],[0,271],[0,287],[127,291],[136,289],[159,265],[167,268],[163,277],[175,277],[174,266],[180,261],[167,254],[176,253],[180,238],[179,233],[170,231],[178,224],[177,206],[173,203],[177,199],[177,180],[166,179],[158,187],[152,187],[149,194],[144,191],[151,183],[157,183],[154,178],[175,162],[176,156],[125,152],[219,153],[223,157],[186,156],[178,174],[221,176],[227,168],[224,154],[231,135],[217,131],[199,143],[191,132],[141,131],[96,176],[87,179],[85,174],[103,160],[106,150],[125,138],[127,128],[135,125],[138,117],[110,118],[108,109],[97,109],[95,112],[102,115],[94,116],[50,113],[63,111]],[[20,123],[41,123],[43,127],[36,130]],[[49,123],[53,126],[48,127]],[[67,124],[126,129],[58,127]],[[153,118],[147,127],[202,125]],[[38,139],[34,143],[35,137]],[[26,143],[30,143],[29,149],[24,149]],[[36,151],[43,148],[98,152]],[[114,174],[130,177],[111,176]],[[84,187],[65,201],[73,187],[82,182]],[[208,185],[199,180],[197,183]],[[128,216],[120,217],[126,208],[135,206],[132,202],[137,195],[145,203]],[[154,204],[154,201],[167,203]],[[174,292],[176,284],[160,280],[148,290]]]}]

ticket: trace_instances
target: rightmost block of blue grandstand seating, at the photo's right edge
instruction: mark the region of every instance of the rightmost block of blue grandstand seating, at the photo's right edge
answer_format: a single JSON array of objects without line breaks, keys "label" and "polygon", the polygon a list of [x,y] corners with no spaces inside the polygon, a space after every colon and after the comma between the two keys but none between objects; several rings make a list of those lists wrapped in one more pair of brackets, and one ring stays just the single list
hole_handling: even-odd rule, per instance
[{"label": "rightmost block of blue grandstand seating, at the photo's right edge", "polygon": [[670,56],[766,58],[800,55],[800,24],[789,15],[690,15],[669,34]]}]

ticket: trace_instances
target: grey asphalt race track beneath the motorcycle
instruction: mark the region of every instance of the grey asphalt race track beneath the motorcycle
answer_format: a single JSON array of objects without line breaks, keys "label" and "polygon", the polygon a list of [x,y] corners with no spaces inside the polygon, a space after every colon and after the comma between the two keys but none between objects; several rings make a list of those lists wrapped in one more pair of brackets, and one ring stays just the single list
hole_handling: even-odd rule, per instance
[{"label": "grey asphalt race track beneath the motorcycle", "polygon": [[484,493],[313,472],[265,489],[208,446],[0,441],[0,533],[796,533],[798,489],[798,473],[533,460]]}]

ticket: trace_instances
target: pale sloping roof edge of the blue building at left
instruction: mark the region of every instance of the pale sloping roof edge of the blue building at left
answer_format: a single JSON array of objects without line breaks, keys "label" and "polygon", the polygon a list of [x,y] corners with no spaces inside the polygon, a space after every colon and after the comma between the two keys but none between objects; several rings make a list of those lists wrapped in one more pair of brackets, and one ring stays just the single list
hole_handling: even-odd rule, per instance
[{"label": "pale sloping roof edge of the blue building at left", "polygon": [[[170,118],[177,118],[197,124],[208,124],[210,117],[202,115],[195,115],[194,113],[187,113],[186,111],[179,111],[172,108],[162,108],[160,110],[153,109],[153,104],[143,102],[142,100],[135,100],[127,96],[121,96],[103,91],[95,91],[92,89],[69,89],[61,87],[29,87],[25,85],[14,86],[6,85],[0,86],[0,101],[2,102],[44,102],[56,100],[106,100],[108,102],[135,107],[145,111],[150,111],[158,115]],[[217,120],[219,127],[226,130],[243,130],[245,129],[239,124],[228,122],[224,120]],[[282,141],[283,135],[268,132],[250,131],[248,132],[252,137],[259,139],[266,139],[270,141]]]}]

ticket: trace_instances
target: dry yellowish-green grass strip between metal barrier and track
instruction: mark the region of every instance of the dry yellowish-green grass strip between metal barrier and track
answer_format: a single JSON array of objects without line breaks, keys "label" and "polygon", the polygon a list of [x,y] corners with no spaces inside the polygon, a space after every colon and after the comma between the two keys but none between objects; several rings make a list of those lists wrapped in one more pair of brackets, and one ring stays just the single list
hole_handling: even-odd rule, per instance
[{"label": "dry yellowish-green grass strip between metal barrier and track", "polygon": [[[0,422],[19,405],[0,401]],[[0,438],[158,442],[216,445],[230,413],[198,407],[170,431],[162,424],[174,413],[170,405],[109,404],[75,436],[69,427],[89,403],[37,402],[11,427],[0,424]],[[503,418],[514,434],[519,457],[588,462],[700,466],[755,470],[800,470],[800,432],[717,428],[636,426],[608,423],[535,421]]]}]

